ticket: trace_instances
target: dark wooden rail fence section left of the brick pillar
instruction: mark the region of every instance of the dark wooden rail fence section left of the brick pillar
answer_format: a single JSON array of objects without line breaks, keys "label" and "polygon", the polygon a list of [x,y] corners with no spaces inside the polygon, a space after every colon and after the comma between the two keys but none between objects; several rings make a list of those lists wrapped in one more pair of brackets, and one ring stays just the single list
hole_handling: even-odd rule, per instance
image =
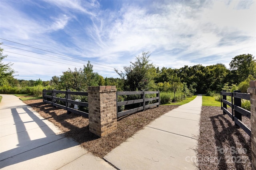
[{"label": "dark wooden rail fence section left of the brick pillar", "polygon": [[[64,94],[65,98],[56,97],[57,94]],[[54,107],[60,107],[62,109],[65,109],[67,110],[68,114],[76,113],[78,115],[82,115],[88,118],[88,113],[71,107],[72,104],[74,106],[77,106],[77,108],[78,106],[88,107],[88,102],[80,102],[77,100],[72,100],[71,95],[88,96],[88,92],[71,92],[70,90],[67,90],[67,91],[43,90],[43,102],[51,104]]]}]

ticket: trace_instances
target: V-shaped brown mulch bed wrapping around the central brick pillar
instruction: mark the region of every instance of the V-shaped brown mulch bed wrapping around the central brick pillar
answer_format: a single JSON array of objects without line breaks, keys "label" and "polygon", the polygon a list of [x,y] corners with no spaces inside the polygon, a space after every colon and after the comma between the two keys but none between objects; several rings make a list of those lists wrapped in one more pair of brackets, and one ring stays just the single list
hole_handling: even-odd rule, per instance
[{"label": "V-shaped brown mulch bed wrapping around the central brick pillar", "polygon": [[154,121],[164,113],[178,107],[159,106],[122,117],[117,121],[118,129],[116,131],[99,138],[89,132],[88,119],[85,117],[73,113],[67,115],[66,110],[52,107],[42,102],[42,100],[26,100],[24,103],[31,106],[42,117],[58,126],[66,137],[73,138],[80,143],[83,148],[100,158],[103,158],[112,149],[126,141],[129,137],[132,137],[132,135],[143,129],[143,127],[148,125],[151,121]]}]

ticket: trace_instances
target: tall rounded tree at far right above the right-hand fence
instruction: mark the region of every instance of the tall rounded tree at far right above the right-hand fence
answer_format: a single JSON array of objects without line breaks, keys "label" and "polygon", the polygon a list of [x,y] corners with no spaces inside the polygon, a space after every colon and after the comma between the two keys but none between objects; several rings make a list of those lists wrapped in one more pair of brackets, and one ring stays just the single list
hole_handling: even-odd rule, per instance
[{"label": "tall rounded tree at far right above the right-hand fence", "polygon": [[236,84],[245,80],[249,75],[256,78],[256,60],[251,54],[242,54],[233,58],[229,63],[230,70],[234,71],[233,78],[236,78]]}]

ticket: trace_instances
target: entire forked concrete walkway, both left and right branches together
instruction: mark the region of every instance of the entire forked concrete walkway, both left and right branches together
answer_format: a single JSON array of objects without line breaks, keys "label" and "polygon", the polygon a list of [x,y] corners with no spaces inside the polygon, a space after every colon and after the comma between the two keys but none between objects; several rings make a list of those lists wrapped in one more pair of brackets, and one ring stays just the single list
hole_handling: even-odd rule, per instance
[{"label": "entire forked concrete walkway, both left and right branches together", "polygon": [[202,96],[162,115],[102,160],[61,134],[16,96],[0,103],[1,169],[196,169],[198,123]]}]

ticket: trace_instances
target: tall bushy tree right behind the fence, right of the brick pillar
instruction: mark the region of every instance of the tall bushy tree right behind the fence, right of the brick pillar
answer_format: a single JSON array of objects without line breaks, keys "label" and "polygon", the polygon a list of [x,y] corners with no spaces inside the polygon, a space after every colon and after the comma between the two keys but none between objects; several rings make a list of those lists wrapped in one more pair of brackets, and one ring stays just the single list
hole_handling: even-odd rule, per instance
[{"label": "tall bushy tree right behind the fence, right of the brick pillar", "polygon": [[150,52],[142,52],[142,56],[136,57],[134,63],[130,62],[130,66],[124,66],[125,72],[118,72],[118,75],[124,80],[124,90],[148,90],[154,84],[154,75],[156,69],[153,64],[149,63]]}]

